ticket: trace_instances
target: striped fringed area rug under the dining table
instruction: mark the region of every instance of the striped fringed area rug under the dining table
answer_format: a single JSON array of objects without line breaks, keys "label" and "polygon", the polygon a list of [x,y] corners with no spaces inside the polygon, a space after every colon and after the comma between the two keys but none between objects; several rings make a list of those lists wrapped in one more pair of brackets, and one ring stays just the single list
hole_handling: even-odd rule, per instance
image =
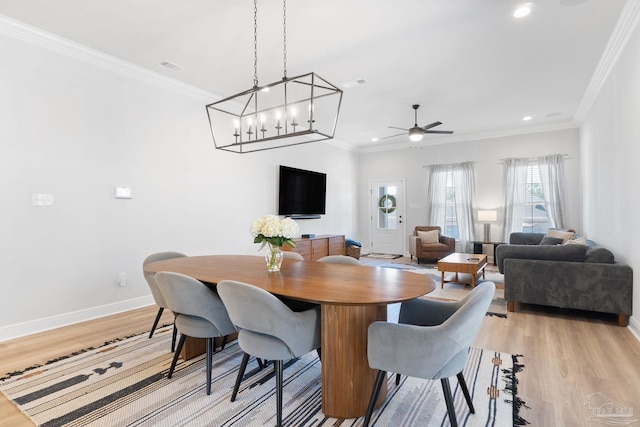
[{"label": "striped fringed area rug under the dining table", "polygon": [[[127,338],[0,379],[0,390],[41,426],[273,426],[271,366],[251,360],[235,402],[229,398],[242,352],[235,342],[214,354],[212,394],[205,391],[204,357],[178,364],[172,379],[171,328]],[[452,379],[463,426],[512,426],[518,408],[518,358],[472,348],[464,375],[476,408],[470,414]],[[455,387],[454,387],[455,386]],[[516,402],[514,404],[514,401]],[[285,365],[284,424],[359,426],[362,418],[326,418],[321,411],[320,361],[309,353]],[[385,404],[375,426],[448,425],[440,381],[389,375]]]}]

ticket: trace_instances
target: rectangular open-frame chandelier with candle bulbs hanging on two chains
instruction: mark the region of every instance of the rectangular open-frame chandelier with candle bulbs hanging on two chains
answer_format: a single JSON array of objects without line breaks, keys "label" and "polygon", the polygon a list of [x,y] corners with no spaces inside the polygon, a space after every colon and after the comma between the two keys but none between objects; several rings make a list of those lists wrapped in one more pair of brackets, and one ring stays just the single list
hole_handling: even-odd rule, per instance
[{"label": "rectangular open-frame chandelier with candle bulbs hanging on two chains", "polygon": [[332,139],[342,103],[342,90],[311,72],[287,77],[286,0],[284,76],[258,84],[257,0],[254,0],[253,87],[206,106],[217,149],[250,153]]}]

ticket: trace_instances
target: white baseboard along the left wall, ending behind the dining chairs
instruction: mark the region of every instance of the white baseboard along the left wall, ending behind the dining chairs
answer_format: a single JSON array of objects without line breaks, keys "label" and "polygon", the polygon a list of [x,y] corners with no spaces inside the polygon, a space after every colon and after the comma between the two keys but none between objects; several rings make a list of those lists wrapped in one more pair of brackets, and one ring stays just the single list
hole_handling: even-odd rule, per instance
[{"label": "white baseboard along the left wall, ending behind the dining chairs", "polygon": [[147,307],[153,304],[155,304],[153,296],[148,295],[113,304],[91,307],[57,316],[44,317],[42,319],[31,320],[29,322],[4,326],[0,328],[0,342],[60,328],[62,326],[86,322],[87,320],[98,319],[100,317],[110,316],[124,311],[135,310],[137,308]]}]

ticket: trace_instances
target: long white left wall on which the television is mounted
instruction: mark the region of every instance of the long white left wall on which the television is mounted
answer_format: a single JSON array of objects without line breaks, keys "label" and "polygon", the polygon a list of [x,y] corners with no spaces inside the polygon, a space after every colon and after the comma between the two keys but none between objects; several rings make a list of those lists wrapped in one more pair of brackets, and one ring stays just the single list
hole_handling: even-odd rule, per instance
[{"label": "long white left wall on which the television is mounted", "polygon": [[[327,215],[301,233],[353,233],[355,154],[215,150],[212,99],[55,44],[0,34],[0,341],[152,302],[152,252],[258,254],[249,225],[277,209],[279,164],[327,173]],[[32,193],[55,205],[32,206]]]}]

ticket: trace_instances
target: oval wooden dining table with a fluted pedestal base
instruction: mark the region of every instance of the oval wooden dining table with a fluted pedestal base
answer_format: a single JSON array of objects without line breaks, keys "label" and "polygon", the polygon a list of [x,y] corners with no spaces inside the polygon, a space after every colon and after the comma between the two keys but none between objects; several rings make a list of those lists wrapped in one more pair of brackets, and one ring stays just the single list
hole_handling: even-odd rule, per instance
[{"label": "oval wooden dining table with a fluted pedestal base", "polygon": [[[148,264],[149,273],[173,271],[215,285],[230,279],[272,294],[321,305],[322,412],[355,418],[366,413],[376,372],[369,368],[369,325],[387,320],[387,305],[435,289],[428,275],[397,268],[285,259],[279,272],[267,272],[264,257],[207,255]],[[386,399],[386,387],[377,405]]]}]

